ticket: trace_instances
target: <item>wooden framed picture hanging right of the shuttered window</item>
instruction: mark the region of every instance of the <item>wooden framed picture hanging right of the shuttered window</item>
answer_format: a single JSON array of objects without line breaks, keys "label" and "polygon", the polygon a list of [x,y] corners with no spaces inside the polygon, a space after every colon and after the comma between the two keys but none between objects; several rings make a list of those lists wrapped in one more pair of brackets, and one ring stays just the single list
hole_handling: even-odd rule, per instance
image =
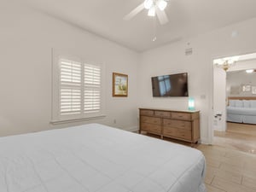
[{"label": "wooden framed picture hanging right of the shuttered window", "polygon": [[113,96],[128,96],[128,75],[113,73]]}]

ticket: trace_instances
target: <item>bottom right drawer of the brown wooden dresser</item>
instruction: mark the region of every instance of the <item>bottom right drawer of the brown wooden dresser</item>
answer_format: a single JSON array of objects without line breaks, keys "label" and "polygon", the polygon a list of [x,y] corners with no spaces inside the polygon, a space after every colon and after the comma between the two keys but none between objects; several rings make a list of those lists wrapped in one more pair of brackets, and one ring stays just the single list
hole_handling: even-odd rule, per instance
[{"label": "bottom right drawer of the brown wooden dresser", "polygon": [[163,135],[166,137],[176,137],[189,141],[191,140],[191,131],[177,128],[165,127],[163,130]]}]

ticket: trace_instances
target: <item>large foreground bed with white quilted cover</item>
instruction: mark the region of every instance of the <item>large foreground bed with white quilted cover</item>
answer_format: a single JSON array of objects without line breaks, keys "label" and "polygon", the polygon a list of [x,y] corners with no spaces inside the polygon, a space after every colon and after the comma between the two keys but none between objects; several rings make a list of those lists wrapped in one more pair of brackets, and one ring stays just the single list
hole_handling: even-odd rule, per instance
[{"label": "large foreground bed with white quilted cover", "polygon": [[99,124],[0,138],[1,192],[205,192],[195,148]]}]

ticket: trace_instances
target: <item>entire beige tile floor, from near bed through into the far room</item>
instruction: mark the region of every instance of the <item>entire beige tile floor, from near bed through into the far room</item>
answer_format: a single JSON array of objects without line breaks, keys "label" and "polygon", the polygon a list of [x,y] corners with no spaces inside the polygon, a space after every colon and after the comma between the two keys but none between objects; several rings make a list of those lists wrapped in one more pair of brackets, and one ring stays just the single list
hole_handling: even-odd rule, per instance
[{"label": "entire beige tile floor, from near bed through into the far room", "polygon": [[256,125],[227,124],[213,146],[199,145],[207,160],[208,192],[256,192]]}]

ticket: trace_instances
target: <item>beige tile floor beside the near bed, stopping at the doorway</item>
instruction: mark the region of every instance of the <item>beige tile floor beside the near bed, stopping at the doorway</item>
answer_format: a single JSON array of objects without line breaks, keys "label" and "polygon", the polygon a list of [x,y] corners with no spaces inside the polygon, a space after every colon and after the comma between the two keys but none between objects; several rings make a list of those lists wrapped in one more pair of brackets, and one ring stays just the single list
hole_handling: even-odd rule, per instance
[{"label": "beige tile floor beside the near bed, stopping at the doorway", "polygon": [[207,160],[207,192],[256,192],[256,155],[219,146],[197,147]]}]

